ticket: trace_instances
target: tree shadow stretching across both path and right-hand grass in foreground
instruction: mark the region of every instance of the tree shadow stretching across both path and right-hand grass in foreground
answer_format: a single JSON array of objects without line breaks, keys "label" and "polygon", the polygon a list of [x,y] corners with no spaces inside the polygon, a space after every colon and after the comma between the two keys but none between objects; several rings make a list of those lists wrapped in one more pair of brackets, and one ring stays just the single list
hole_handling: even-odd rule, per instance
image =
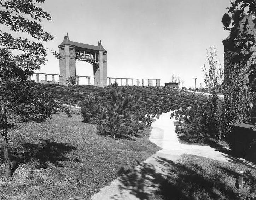
[{"label": "tree shadow stretching across both path and right-hand grass in foreground", "polygon": [[[228,187],[222,174],[214,170],[205,172],[197,164],[184,165],[161,157],[157,157],[156,162],[159,169],[169,172],[167,176],[163,176],[153,165],[142,163],[119,178],[122,183],[119,185],[121,196],[114,195],[112,199],[125,199],[127,189],[141,200],[155,199],[155,196],[161,196],[163,200],[237,198],[235,189]],[[222,170],[232,177],[237,176],[237,173],[229,169]]]}]

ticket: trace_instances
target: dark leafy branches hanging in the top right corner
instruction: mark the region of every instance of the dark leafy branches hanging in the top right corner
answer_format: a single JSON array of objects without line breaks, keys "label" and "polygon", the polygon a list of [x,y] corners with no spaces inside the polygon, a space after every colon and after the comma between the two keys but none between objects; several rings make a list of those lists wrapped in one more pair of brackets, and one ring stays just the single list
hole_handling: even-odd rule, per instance
[{"label": "dark leafy branches hanging in the top right corner", "polygon": [[[222,17],[224,29],[230,31],[230,38],[224,42],[224,45],[233,53],[230,58],[232,63],[246,63],[248,65],[246,74],[249,78],[249,85],[254,86],[256,62],[255,57],[252,55],[256,41],[254,36],[248,32],[247,25],[249,20],[243,14],[245,8],[248,8],[248,15],[252,15],[253,22],[256,22],[256,5],[254,0],[235,0],[231,2],[231,7],[227,8],[229,14],[225,13]],[[237,69],[243,68],[243,64],[240,64]]]}]

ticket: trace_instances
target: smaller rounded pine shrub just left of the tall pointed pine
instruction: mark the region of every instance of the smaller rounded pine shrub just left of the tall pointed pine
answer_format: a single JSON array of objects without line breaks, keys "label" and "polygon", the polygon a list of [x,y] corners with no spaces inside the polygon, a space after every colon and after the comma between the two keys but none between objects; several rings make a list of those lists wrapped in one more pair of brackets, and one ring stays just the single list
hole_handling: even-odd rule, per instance
[{"label": "smaller rounded pine shrub just left of the tall pointed pine", "polygon": [[101,112],[99,96],[89,94],[83,97],[80,104],[83,121],[86,123],[95,124],[98,119],[98,115]]}]

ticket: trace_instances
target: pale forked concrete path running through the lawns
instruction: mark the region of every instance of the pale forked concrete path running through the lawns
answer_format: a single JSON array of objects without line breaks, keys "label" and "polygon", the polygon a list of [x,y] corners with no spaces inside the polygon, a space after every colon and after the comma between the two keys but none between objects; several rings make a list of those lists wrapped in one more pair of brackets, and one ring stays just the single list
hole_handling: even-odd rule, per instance
[{"label": "pale forked concrete path running through the lawns", "polygon": [[118,177],[109,186],[101,188],[91,200],[144,200],[155,193],[159,183],[167,175],[171,165],[175,165],[182,154],[193,154],[207,158],[238,162],[255,167],[244,159],[232,157],[209,146],[180,144],[175,133],[171,112],[165,113],[152,123],[150,141],[162,148],[135,169],[122,177]]}]

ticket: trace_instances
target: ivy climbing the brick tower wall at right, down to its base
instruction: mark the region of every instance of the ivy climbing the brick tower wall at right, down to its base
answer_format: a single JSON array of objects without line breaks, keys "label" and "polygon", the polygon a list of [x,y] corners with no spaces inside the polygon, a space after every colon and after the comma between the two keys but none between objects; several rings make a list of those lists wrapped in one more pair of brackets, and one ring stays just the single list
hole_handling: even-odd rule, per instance
[{"label": "ivy climbing the brick tower wall at right, down to its base", "polygon": [[232,129],[229,123],[243,123],[250,117],[248,104],[254,100],[252,88],[247,84],[246,68],[237,69],[241,63],[231,63],[229,58],[232,52],[226,52],[225,80],[223,83],[225,96],[225,112],[222,126],[226,141],[233,149]]}]

